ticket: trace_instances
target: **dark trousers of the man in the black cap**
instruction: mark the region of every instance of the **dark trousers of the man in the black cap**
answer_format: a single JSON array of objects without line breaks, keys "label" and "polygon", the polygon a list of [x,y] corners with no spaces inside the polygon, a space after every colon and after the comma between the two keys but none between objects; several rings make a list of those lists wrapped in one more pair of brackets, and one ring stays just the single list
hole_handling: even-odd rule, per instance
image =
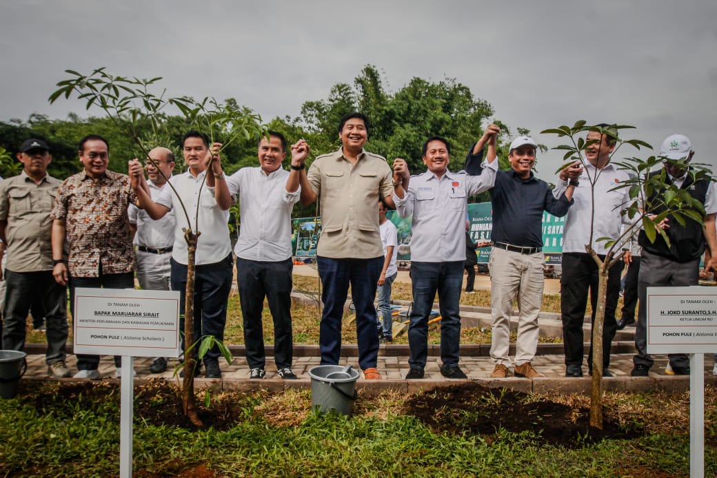
[{"label": "dark trousers of the man in the black cap", "polygon": [[[5,326],[2,345],[6,350],[22,350],[25,346],[27,313],[39,299],[47,322],[47,353],[45,362],[65,360],[67,345],[67,289],[52,277],[52,271],[12,272],[5,269]],[[41,317],[32,317],[37,320]]]}]

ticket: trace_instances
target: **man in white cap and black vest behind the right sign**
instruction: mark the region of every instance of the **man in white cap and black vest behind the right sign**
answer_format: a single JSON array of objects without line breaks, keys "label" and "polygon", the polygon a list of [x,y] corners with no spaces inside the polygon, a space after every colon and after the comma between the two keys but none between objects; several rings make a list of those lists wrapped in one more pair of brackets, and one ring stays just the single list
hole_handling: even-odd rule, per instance
[{"label": "man in white cap and black vest behind the right sign", "polygon": [[[717,196],[714,184],[710,178],[701,178],[695,181],[687,166],[694,156],[690,138],[685,135],[671,135],[663,142],[660,156],[665,167],[665,181],[687,191],[694,199],[703,204],[703,224],[685,218],[685,224],[673,221],[668,216],[660,226],[670,238],[670,245],[662,236],[658,235],[655,242],[647,239],[645,231],[640,231],[639,242],[642,246],[642,259],[640,261],[640,275],[637,280],[637,290],[640,295],[640,305],[637,309],[637,330],[635,331],[635,348],[637,354],[632,358],[635,364],[632,376],[647,376],[650,367],[655,362],[647,354],[647,287],[686,287],[697,285],[699,279],[700,257],[707,248],[711,254],[705,263],[705,269],[717,272],[717,239],[715,236],[715,213],[717,213]],[[662,174],[662,171],[650,173],[650,176]],[[656,204],[657,198],[653,194],[648,198],[648,204]],[[653,212],[659,214],[662,206],[657,206]],[[693,208],[693,211],[698,209]],[[701,211],[698,211],[701,212]],[[689,375],[690,361],[688,355],[670,354],[665,373],[668,375]]]}]

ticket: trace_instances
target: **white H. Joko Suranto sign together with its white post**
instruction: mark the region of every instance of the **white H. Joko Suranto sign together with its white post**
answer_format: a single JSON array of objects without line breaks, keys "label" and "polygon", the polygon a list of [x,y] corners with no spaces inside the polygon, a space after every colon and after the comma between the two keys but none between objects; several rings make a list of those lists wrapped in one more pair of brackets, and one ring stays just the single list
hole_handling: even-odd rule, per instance
[{"label": "white H. Joko Suranto sign together with its white post", "polygon": [[690,354],[690,477],[705,476],[705,353],[717,349],[711,287],[647,288],[647,353]]}]

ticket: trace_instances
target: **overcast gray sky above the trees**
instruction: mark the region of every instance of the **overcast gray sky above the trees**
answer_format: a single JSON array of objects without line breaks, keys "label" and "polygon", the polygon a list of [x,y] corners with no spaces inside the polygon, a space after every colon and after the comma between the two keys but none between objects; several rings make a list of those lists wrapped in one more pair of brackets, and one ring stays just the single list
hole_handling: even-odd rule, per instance
[{"label": "overcast gray sky above the trees", "polygon": [[[717,165],[715,0],[0,0],[0,8],[3,121],[86,115],[78,102],[47,102],[66,69],[161,76],[170,95],[234,97],[269,120],[298,115],[304,101],[374,64],[391,91],[412,77],[455,78],[495,119],[546,145],[558,144],[538,134],[546,128],[622,123],[656,150],[671,133],[686,134],[695,161]],[[561,157],[540,156],[539,176],[552,178]]]}]

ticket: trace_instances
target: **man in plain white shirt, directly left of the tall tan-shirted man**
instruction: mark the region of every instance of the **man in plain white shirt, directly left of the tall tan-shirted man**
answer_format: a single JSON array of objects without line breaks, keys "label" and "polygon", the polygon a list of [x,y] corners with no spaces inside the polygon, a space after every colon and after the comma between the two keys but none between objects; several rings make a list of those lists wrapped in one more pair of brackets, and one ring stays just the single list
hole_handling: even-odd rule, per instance
[{"label": "man in plain white shirt, directly left of the tall tan-shirted man", "polygon": [[232,196],[239,194],[242,224],[234,246],[237,285],[244,317],[244,345],[250,378],[264,378],[262,330],[264,298],[274,320],[274,360],[277,375],[293,380],[291,332],[291,210],[300,199],[299,171],[308,156],[304,140],[291,147],[292,171],[282,169],[286,139],[277,131],[260,138],[260,166],[242,168],[227,178]]}]

